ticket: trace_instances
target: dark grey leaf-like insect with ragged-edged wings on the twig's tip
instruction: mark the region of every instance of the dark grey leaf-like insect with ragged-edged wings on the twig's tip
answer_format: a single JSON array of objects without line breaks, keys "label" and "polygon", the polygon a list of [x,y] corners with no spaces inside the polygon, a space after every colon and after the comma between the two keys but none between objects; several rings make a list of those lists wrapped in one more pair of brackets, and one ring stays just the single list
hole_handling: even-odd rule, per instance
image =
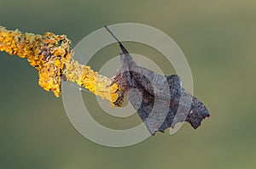
[{"label": "dark grey leaf-like insect with ragged-edged wings on the twig's tip", "polygon": [[121,42],[119,47],[121,68],[113,82],[126,93],[152,135],[183,121],[197,128],[210,115],[199,99],[183,89],[177,75],[162,76],[140,67]]}]

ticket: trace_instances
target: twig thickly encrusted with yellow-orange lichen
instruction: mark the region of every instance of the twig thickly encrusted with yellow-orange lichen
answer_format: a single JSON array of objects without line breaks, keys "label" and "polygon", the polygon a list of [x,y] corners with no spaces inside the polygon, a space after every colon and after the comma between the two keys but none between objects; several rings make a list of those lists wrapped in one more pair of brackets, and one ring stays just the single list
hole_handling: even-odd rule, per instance
[{"label": "twig thickly encrusted with yellow-orange lichen", "polygon": [[76,82],[90,92],[108,99],[111,105],[120,106],[123,99],[121,88],[106,76],[98,75],[90,66],[81,65],[72,58],[73,50],[65,35],[46,32],[44,36],[8,31],[0,27],[0,51],[26,58],[38,70],[38,83],[46,91],[61,94],[61,79]]}]

